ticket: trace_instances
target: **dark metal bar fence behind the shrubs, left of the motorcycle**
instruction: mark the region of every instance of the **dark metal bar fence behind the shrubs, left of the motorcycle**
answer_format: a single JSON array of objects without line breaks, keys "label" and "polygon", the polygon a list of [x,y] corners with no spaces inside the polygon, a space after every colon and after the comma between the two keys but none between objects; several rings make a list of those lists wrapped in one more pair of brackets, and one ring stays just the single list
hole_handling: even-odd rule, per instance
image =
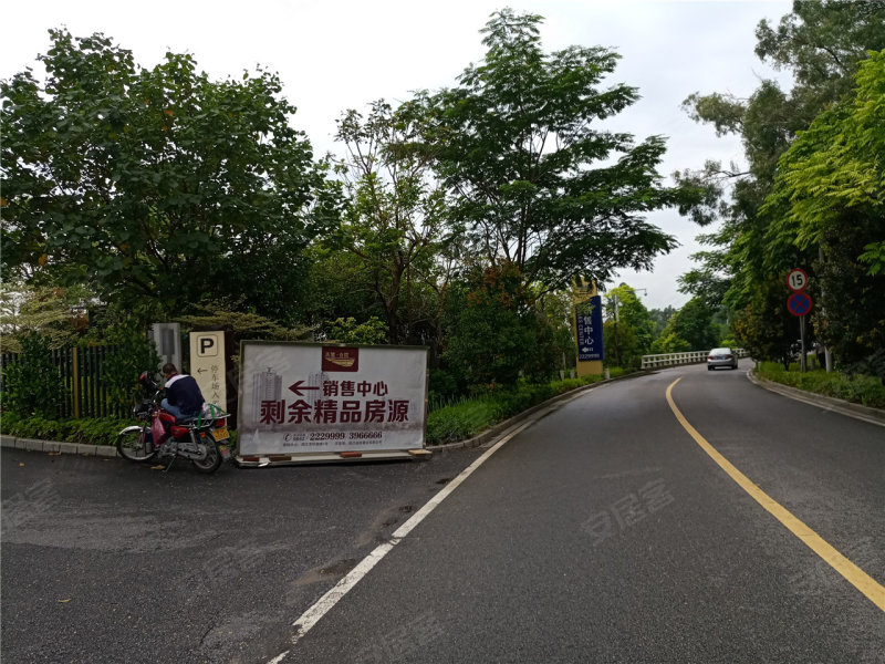
[{"label": "dark metal bar fence behind the shrubs, left of the motorcycle", "polygon": [[[64,401],[59,417],[125,417],[132,406],[111,403],[108,386],[103,378],[105,360],[117,352],[115,346],[59,349],[51,351],[64,386]],[[0,355],[0,370],[18,362],[14,353]]]}]

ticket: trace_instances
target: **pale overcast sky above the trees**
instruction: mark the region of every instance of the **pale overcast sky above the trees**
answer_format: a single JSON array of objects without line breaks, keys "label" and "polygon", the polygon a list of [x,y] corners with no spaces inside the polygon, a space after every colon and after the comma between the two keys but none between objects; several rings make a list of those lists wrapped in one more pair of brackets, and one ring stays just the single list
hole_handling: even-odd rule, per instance
[{"label": "pale overcast sky above the trees", "polygon": [[[760,79],[783,79],[753,54],[754,28],[763,18],[777,22],[791,6],[789,0],[8,2],[0,13],[0,77],[34,65],[49,48],[46,31],[63,25],[75,37],[104,32],[144,66],[157,64],[166,51],[191,53],[217,79],[261,65],[280,74],[287,98],[298,107],[294,125],[306,132],[319,156],[336,152],[332,134],[342,111],[454,85],[482,58],[479,30],[489,14],[512,7],[545,18],[545,50],[604,45],[623,56],[612,83],[636,86],[643,98],[607,126],[637,139],[667,136],[660,172],[668,176],[699,168],[708,158],[741,160],[738,141],[717,138],[680,104],[696,91],[747,96]],[[624,272],[618,281],[646,289],[639,295],[649,309],[681,307],[688,297],[677,291],[676,280],[690,269],[701,230],[676,211],[649,220],[681,247],[658,258],[653,272]]]}]

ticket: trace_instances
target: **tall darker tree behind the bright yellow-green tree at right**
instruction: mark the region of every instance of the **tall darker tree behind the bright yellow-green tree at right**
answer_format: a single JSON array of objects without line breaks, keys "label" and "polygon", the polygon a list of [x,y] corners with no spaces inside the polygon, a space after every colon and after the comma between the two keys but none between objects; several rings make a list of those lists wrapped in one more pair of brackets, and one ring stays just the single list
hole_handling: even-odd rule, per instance
[{"label": "tall darker tree behind the bright yellow-green tree at right", "polygon": [[[683,292],[709,304],[725,302],[745,312],[764,300],[760,284],[792,267],[811,267],[816,249],[772,246],[770,230],[778,219],[761,210],[778,174],[780,156],[799,132],[824,108],[851,95],[852,76],[867,52],[885,48],[885,6],[875,2],[809,0],[777,27],[757,29],[757,54],[789,70],[793,85],[784,92],[763,81],[748,100],[727,94],[695,94],[686,100],[691,116],[710,123],[718,134],[741,137],[747,168],[708,163],[700,173],[681,174],[684,181],[707,187],[706,207],[696,219],[720,218],[721,228],[699,239],[711,247],[697,255],[701,267],[683,277]],[[730,200],[719,198],[726,193]],[[873,251],[871,248],[870,251]],[[762,313],[757,310],[754,315]],[[771,321],[772,325],[777,324]]]}]

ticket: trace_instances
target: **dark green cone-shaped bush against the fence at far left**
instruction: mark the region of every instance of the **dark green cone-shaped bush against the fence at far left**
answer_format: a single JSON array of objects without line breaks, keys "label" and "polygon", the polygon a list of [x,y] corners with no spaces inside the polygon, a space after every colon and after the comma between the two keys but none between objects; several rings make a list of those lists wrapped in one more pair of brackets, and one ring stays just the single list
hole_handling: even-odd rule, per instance
[{"label": "dark green cone-shaped bush against the fence at far left", "polygon": [[21,340],[21,353],[3,372],[3,411],[21,417],[53,417],[64,403],[65,388],[46,338],[31,332]]}]

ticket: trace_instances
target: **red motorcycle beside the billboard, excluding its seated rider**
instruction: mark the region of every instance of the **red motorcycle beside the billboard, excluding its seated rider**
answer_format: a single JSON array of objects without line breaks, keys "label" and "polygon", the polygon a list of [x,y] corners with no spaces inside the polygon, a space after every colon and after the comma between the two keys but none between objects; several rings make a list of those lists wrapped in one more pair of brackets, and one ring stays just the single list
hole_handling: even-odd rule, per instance
[{"label": "red motorcycle beside the billboard, excluding its seated rider", "polygon": [[176,421],[175,415],[160,407],[163,390],[147,372],[138,376],[143,387],[153,392],[143,400],[133,414],[139,424],[127,426],[117,435],[119,455],[131,461],[149,461],[156,457],[169,458],[168,470],[177,458],[188,459],[200,473],[215,473],[225,459],[230,458],[230,415],[218,406],[207,404],[196,417]]}]

